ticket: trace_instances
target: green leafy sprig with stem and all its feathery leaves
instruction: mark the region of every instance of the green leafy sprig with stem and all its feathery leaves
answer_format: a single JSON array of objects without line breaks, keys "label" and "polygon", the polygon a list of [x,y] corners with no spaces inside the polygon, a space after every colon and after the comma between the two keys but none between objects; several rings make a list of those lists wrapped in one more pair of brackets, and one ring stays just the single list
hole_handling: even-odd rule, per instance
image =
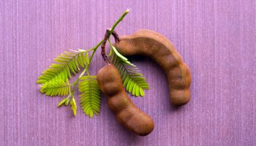
[{"label": "green leafy sprig with stem and all its feathery leaves", "polygon": [[[113,33],[118,23],[123,20],[125,15],[129,12],[127,9],[123,15],[113,24],[107,39]],[[42,75],[38,77],[37,83],[40,85],[41,93],[45,93],[46,96],[67,96],[59,102],[59,107],[62,105],[70,104],[74,115],[77,115],[77,104],[75,101],[75,88],[78,85],[80,91],[80,107],[83,112],[90,118],[94,115],[98,115],[100,112],[101,100],[99,85],[97,83],[97,77],[89,74],[89,66],[91,59],[94,57],[94,53],[97,48],[102,45],[104,39],[102,39],[96,46],[89,50],[71,50],[70,52],[64,52],[54,59],[55,64],[51,64],[48,69],[42,72]],[[110,42],[110,41],[109,41]],[[118,53],[116,48],[110,43],[111,49],[111,61],[118,67],[118,71],[121,74],[124,86],[127,91],[135,96],[144,96],[143,89],[148,89],[148,84],[142,74],[138,71],[138,68],[130,63],[127,58]],[[89,56],[89,52],[91,52]],[[69,84],[72,74],[77,74],[80,69],[83,69],[80,76],[75,82]],[[84,76],[84,74],[87,74]]]}]

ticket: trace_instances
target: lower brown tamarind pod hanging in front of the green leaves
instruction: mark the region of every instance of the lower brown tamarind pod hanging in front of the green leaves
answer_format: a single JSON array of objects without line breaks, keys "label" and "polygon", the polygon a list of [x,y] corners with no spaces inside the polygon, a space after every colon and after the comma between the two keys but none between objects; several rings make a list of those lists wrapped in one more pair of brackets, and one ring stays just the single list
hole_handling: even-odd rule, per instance
[{"label": "lower brown tamarind pod hanging in front of the green leaves", "polygon": [[153,131],[154,121],[129,99],[115,66],[108,64],[99,69],[97,80],[100,90],[108,97],[108,106],[116,113],[119,123],[140,136],[146,136]]}]

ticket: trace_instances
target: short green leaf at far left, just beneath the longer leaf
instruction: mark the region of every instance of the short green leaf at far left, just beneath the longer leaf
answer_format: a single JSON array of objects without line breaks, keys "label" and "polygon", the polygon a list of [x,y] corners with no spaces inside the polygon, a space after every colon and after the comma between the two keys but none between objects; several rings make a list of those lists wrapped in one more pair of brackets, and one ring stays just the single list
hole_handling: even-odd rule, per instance
[{"label": "short green leaf at far left, just beneath the longer leaf", "polygon": [[66,96],[70,93],[70,84],[69,80],[64,82],[59,78],[50,80],[50,82],[45,82],[41,85],[41,93],[45,93],[47,96]]}]

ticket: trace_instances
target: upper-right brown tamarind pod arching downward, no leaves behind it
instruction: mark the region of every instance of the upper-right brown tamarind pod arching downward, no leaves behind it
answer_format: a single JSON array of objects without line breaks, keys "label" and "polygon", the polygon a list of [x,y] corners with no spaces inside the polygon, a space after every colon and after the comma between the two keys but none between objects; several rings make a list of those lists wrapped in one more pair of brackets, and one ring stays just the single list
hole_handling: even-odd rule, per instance
[{"label": "upper-right brown tamarind pod arching downward, no leaves behind it", "polygon": [[192,82],[189,67],[173,44],[162,34],[142,29],[122,36],[114,45],[122,55],[146,55],[164,69],[170,88],[170,101],[174,105],[187,104]]}]

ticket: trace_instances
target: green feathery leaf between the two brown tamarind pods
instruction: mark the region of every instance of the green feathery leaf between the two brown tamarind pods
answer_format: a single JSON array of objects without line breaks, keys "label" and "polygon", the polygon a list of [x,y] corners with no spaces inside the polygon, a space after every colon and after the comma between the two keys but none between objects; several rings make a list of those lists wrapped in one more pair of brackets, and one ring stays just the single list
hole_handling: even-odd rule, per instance
[{"label": "green feathery leaf between the two brown tamarind pods", "polygon": [[140,73],[138,67],[130,63],[127,58],[118,53],[116,47],[111,47],[110,61],[116,66],[124,87],[129,93],[132,93],[134,96],[144,96],[144,89],[149,89],[148,82],[146,82],[143,74]]}]

